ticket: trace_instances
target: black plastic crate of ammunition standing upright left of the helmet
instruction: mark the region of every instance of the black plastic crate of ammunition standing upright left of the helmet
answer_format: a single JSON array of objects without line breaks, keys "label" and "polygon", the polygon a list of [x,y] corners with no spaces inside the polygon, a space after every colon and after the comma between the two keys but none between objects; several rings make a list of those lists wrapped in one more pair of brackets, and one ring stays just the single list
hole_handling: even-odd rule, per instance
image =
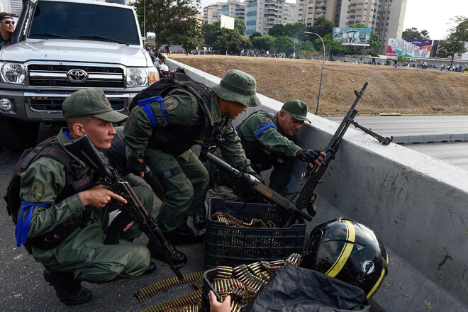
[{"label": "black plastic crate of ammunition standing upright left of the helmet", "polygon": [[[232,216],[273,221],[280,228],[238,228],[211,220],[218,211]],[[211,198],[206,223],[206,267],[237,267],[258,261],[286,259],[291,253],[302,253],[306,224],[302,218],[289,228],[281,228],[289,212],[270,204],[251,204]]]}]

